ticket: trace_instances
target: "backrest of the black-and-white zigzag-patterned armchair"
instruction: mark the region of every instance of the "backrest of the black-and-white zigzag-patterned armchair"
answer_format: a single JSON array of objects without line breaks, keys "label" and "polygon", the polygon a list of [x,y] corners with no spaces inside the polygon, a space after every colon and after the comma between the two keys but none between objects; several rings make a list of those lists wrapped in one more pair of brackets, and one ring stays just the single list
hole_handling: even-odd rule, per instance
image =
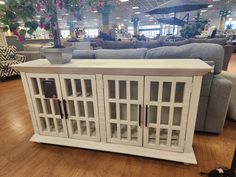
[{"label": "backrest of the black-and-white zigzag-patterned armchair", "polygon": [[0,61],[12,60],[16,54],[15,46],[0,46]]}]

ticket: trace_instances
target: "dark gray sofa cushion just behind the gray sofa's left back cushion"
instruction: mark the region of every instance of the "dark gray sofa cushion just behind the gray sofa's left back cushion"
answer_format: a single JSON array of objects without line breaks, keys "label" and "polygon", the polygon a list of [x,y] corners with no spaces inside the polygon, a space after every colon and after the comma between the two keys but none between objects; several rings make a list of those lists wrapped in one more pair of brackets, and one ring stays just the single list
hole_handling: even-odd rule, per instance
[{"label": "dark gray sofa cushion just behind the gray sofa's left back cushion", "polygon": [[133,49],[133,42],[125,41],[102,41],[103,49]]}]

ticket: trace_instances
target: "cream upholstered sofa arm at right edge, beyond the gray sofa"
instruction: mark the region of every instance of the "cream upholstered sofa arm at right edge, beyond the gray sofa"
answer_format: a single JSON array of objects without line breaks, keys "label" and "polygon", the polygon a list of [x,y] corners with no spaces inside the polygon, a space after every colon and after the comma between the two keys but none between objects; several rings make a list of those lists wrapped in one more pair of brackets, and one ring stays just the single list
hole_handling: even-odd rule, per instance
[{"label": "cream upholstered sofa arm at right edge, beyond the gray sofa", "polygon": [[229,101],[228,116],[236,120],[236,73],[223,71],[221,75],[232,82],[232,92]]}]

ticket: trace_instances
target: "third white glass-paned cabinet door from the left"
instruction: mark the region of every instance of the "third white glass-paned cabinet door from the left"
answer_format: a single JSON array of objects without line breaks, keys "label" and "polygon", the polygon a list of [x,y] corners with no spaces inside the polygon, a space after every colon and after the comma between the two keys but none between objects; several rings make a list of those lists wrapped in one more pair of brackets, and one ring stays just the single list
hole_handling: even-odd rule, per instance
[{"label": "third white glass-paned cabinet door from the left", "polygon": [[142,146],[143,76],[103,76],[107,141]]}]

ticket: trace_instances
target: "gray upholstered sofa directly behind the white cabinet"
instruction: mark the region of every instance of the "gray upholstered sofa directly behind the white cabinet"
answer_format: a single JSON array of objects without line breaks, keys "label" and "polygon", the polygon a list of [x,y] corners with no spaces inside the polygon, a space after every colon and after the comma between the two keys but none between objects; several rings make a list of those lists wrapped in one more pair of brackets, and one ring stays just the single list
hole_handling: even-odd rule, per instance
[{"label": "gray upholstered sofa directly behind the white cabinet", "polygon": [[217,44],[187,44],[153,49],[74,50],[73,59],[174,59],[200,58],[213,64],[214,71],[203,77],[196,131],[221,133],[229,104],[232,83],[220,75],[224,49]]}]

